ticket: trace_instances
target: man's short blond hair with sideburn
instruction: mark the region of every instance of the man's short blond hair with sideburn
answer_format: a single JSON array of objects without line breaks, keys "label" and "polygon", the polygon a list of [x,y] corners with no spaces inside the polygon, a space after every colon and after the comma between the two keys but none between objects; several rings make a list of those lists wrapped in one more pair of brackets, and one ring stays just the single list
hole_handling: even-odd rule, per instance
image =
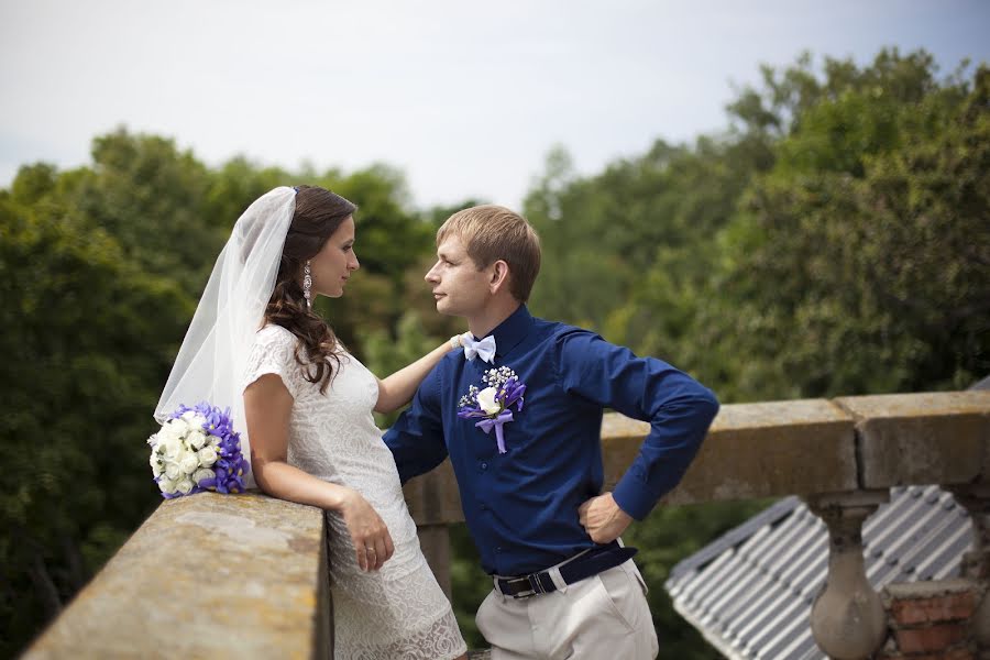
[{"label": "man's short blond hair with sideburn", "polygon": [[483,205],[458,211],[437,230],[437,245],[449,235],[464,243],[479,270],[502,260],[509,266],[509,292],[529,300],[540,272],[540,238],[526,218],[505,207]]}]

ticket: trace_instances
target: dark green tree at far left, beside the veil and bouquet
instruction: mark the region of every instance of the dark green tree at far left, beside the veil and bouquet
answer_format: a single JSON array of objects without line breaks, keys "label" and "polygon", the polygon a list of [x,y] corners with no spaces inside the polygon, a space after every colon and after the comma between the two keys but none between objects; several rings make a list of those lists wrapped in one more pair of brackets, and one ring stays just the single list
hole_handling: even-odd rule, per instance
[{"label": "dark green tree at far left, beside the veil and bouquet", "polygon": [[53,172],[23,170],[0,199],[3,656],[158,499],[135,479],[147,462],[140,440],[191,314],[174,282],[136,267],[113,238],[51,201]]}]

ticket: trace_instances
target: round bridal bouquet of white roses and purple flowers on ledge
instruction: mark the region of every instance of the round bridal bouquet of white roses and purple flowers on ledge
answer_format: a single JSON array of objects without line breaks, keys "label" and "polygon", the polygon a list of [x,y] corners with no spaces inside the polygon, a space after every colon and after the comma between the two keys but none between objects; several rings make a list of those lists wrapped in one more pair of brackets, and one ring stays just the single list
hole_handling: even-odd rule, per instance
[{"label": "round bridal bouquet of white roses and purple flowers on ledge", "polygon": [[166,499],[201,491],[244,491],[251,465],[241,453],[230,408],[221,413],[206,402],[179,406],[147,443],[152,473]]}]

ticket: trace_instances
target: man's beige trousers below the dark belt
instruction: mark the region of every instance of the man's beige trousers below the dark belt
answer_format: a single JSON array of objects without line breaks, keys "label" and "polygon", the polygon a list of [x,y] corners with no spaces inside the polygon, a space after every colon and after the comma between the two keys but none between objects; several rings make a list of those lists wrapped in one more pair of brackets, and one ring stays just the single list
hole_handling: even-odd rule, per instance
[{"label": "man's beige trousers below the dark belt", "polygon": [[498,587],[477,609],[493,660],[640,660],[659,652],[646,583],[632,560],[558,591],[513,598]]}]

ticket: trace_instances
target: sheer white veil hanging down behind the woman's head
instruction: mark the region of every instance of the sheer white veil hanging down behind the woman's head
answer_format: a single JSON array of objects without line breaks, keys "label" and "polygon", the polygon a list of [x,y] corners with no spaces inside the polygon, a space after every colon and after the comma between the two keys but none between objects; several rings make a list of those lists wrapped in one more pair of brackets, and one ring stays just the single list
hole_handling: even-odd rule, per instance
[{"label": "sheer white veil hanging down behind the woman's head", "polygon": [[[275,290],[282,249],[296,211],[296,191],[278,187],[257,198],[234,224],[186,331],[155,419],[180,404],[230,407],[241,451],[251,460],[244,420],[243,377],[248,353]],[[246,485],[254,484],[249,475]]]}]

